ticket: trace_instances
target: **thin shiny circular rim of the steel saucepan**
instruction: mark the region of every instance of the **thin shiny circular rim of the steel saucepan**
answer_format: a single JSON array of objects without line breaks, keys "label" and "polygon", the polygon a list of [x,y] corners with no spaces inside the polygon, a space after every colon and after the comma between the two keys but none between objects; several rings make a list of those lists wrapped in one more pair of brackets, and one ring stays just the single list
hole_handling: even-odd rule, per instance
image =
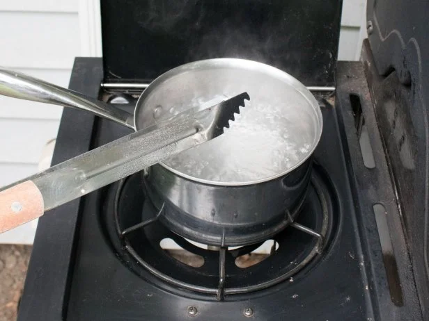
[{"label": "thin shiny circular rim of the steel saucepan", "polygon": [[139,100],[137,101],[137,104],[136,104],[136,110],[134,112],[134,124],[136,124],[136,129],[139,124],[139,122],[137,122],[137,118],[139,117],[137,108],[139,108],[139,110],[143,108],[143,101],[145,101],[146,97],[148,97],[148,95],[150,94],[150,92],[153,91],[154,88],[157,88],[157,85],[159,83],[162,83],[164,80],[169,79],[172,76],[176,76],[177,74],[180,74],[182,72],[189,72],[194,69],[203,69],[209,66],[210,67],[216,67],[216,66],[228,67],[228,65],[231,65],[233,67],[237,67],[237,66],[245,67],[250,70],[254,69],[259,72],[263,71],[267,74],[271,74],[273,77],[283,80],[285,83],[288,83],[288,85],[292,86],[293,88],[295,88],[295,90],[297,90],[300,94],[302,94],[302,96],[309,102],[309,106],[313,107],[315,122],[317,123],[317,126],[318,126],[318,128],[316,129],[315,137],[312,142],[311,148],[309,149],[309,153],[306,154],[306,156],[304,156],[295,165],[293,165],[292,167],[289,167],[288,170],[284,170],[283,172],[279,172],[272,176],[267,176],[263,179],[256,179],[252,181],[240,181],[240,182],[210,181],[208,179],[200,179],[198,177],[194,177],[189,174],[182,173],[179,170],[176,170],[173,167],[166,165],[165,163],[160,162],[159,165],[162,165],[162,167],[166,168],[170,172],[173,172],[178,176],[182,176],[185,179],[189,179],[190,181],[204,183],[212,186],[247,186],[247,185],[253,185],[257,183],[263,183],[266,181],[271,181],[281,176],[285,176],[286,174],[292,172],[297,167],[302,165],[307,159],[309,159],[313,155],[313,152],[315,148],[318,146],[320,137],[322,135],[322,129],[323,129],[322,113],[320,111],[318,101],[315,99],[313,94],[310,92],[310,90],[306,88],[304,84],[299,82],[297,79],[295,79],[287,72],[284,72],[283,70],[278,69],[276,67],[266,65],[264,63],[258,63],[257,61],[254,61],[254,60],[246,60],[246,59],[240,59],[240,58],[214,58],[214,59],[194,61],[192,63],[180,65],[176,68],[169,70],[168,72],[165,72],[161,76],[158,76],[157,79],[155,79],[155,81],[150,83],[148,88],[146,88],[146,90],[144,90],[143,93],[140,95]]}]

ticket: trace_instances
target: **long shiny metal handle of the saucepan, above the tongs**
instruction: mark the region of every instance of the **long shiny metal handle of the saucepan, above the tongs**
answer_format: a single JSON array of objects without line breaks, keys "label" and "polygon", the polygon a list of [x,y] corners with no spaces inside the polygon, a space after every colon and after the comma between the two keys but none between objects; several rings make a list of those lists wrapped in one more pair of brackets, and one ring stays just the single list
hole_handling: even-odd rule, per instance
[{"label": "long shiny metal handle of the saucepan, above the tongs", "polygon": [[4,67],[0,67],[0,94],[45,104],[88,110],[95,115],[135,129],[134,116],[126,111],[114,108],[103,101],[86,97],[79,92]]}]

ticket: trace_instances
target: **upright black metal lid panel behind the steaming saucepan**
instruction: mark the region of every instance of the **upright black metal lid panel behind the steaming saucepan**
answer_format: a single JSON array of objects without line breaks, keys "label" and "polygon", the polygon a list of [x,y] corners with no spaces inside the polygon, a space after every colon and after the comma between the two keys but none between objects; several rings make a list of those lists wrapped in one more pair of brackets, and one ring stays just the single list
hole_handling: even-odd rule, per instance
[{"label": "upright black metal lid panel behind the steaming saucepan", "polygon": [[101,1],[105,82],[149,82],[206,58],[246,58],[334,85],[338,0]]}]

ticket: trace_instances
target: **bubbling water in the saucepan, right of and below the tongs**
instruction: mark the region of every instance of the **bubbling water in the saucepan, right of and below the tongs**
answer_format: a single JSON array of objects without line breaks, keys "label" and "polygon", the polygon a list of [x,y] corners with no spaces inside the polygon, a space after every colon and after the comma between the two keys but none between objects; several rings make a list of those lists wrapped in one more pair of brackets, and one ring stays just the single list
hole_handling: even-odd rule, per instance
[{"label": "bubbling water in the saucepan, right of and below the tongs", "polygon": [[[193,102],[202,104],[201,99]],[[276,106],[246,101],[224,135],[164,162],[197,179],[244,183],[267,179],[290,170],[309,156],[315,124],[309,102]]]}]

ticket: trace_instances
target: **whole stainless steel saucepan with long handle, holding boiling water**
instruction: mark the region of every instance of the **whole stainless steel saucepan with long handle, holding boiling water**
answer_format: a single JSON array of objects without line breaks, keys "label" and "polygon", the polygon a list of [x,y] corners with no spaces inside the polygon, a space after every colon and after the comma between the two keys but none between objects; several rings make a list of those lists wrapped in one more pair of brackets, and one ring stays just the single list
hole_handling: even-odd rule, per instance
[{"label": "whole stainless steel saucepan with long handle, holding boiling water", "polygon": [[155,79],[130,115],[0,70],[1,94],[91,110],[136,130],[241,92],[248,92],[251,101],[228,135],[150,167],[143,178],[155,208],[164,204],[164,224],[209,245],[264,240],[299,213],[310,181],[311,155],[322,133],[318,102],[302,83],[250,60],[201,60]]}]

